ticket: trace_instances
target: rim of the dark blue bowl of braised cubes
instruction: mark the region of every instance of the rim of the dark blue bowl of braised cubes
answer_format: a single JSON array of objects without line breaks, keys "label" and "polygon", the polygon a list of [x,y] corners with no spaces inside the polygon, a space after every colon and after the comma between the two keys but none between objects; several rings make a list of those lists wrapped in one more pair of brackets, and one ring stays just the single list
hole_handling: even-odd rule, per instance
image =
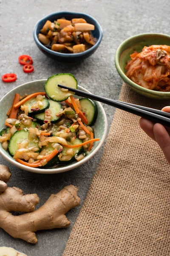
[{"label": "rim of the dark blue bowl of braised cubes", "polygon": [[[55,51],[52,51],[51,49],[48,49],[47,47],[45,47],[40,41],[39,39],[37,38],[37,26],[38,24],[42,21],[42,20],[45,20],[45,19],[48,19],[49,17],[51,17],[52,15],[59,15],[59,14],[70,14],[70,15],[85,15],[85,16],[88,16],[91,18],[91,20],[94,20],[96,23],[97,23],[97,27],[99,29],[99,38],[96,42],[96,44],[94,44],[90,49],[88,50],[85,50],[85,52],[79,52],[79,53],[74,53],[73,54],[69,54],[69,53],[62,53],[62,52],[55,52]],[[43,49],[45,50],[45,52],[48,52],[50,54],[53,54],[53,55],[56,55],[56,56],[59,56],[59,57],[64,57],[64,58],[73,58],[73,57],[79,57],[79,56],[84,56],[88,53],[90,53],[91,51],[93,51],[94,49],[96,49],[96,47],[99,46],[99,44],[101,43],[102,41],[102,36],[103,36],[103,30],[102,30],[102,27],[101,25],[99,24],[99,22],[94,18],[92,17],[91,15],[88,15],[84,12],[68,12],[68,11],[62,11],[62,12],[53,12],[49,15],[46,15],[45,17],[43,17],[42,19],[38,20],[37,23],[35,24],[34,26],[34,30],[33,30],[33,37],[34,37],[34,40],[35,42]]]}]

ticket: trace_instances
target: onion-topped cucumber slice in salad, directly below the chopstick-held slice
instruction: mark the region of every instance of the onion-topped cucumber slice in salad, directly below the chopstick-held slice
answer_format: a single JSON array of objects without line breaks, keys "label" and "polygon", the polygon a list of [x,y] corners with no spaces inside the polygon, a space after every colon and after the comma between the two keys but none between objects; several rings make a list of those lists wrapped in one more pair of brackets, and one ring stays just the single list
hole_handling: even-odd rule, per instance
[{"label": "onion-topped cucumber slice in salad, directly below the chopstick-held slice", "polygon": [[[62,106],[59,102],[54,102],[53,100],[49,99],[49,109],[51,109],[51,122],[57,122],[59,119],[59,116],[56,116],[56,114],[59,113],[60,109],[62,109]],[[35,115],[34,118],[37,119],[37,122],[43,123],[44,122],[44,113],[40,113],[38,115]]]}]

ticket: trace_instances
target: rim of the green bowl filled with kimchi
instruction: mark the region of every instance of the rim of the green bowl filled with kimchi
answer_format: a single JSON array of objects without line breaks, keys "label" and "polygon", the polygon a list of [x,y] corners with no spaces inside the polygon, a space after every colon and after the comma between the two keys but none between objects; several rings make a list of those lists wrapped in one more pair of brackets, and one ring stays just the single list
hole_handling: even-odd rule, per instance
[{"label": "rim of the green bowl filled with kimchi", "polygon": [[[163,96],[166,95],[167,96],[170,96],[170,92],[159,92],[159,91],[155,91],[155,90],[150,90],[150,89],[147,89],[147,88],[144,88],[142,86],[140,86],[139,84],[136,84],[134,83],[132,80],[130,80],[126,75],[125,73],[122,71],[122,68],[120,67],[120,64],[119,64],[119,61],[120,61],[120,58],[119,58],[119,52],[120,52],[120,49],[127,44],[127,42],[129,42],[130,40],[132,40],[133,38],[140,38],[142,36],[147,36],[147,35],[156,35],[156,36],[165,36],[167,38],[170,39],[170,35],[167,35],[167,34],[161,34],[161,33],[142,33],[142,34],[138,34],[138,35],[133,35],[132,37],[130,38],[127,38],[125,39],[125,41],[123,41],[119,47],[116,49],[116,53],[115,53],[115,66],[116,66],[116,70],[117,72],[119,73],[119,75],[122,77],[122,79],[125,81],[125,83],[127,84],[130,84],[132,87],[138,89],[139,91],[143,92],[143,93],[151,93],[155,96]],[[162,99],[164,99],[162,97]]]}]

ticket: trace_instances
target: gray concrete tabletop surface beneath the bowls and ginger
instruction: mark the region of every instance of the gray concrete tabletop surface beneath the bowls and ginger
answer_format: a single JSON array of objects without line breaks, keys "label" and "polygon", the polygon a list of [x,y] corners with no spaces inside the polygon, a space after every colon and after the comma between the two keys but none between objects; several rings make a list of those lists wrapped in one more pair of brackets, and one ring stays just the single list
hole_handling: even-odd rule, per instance
[{"label": "gray concrete tabletop surface beneath the bowls and ginger", "polygon": [[[40,52],[34,43],[33,28],[37,20],[51,12],[78,11],[94,16],[101,24],[104,35],[99,49],[80,64],[61,64]],[[144,32],[170,34],[169,0],[0,0],[0,76],[16,73],[17,81],[0,81],[0,97],[12,88],[28,81],[46,79],[55,73],[73,73],[78,83],[100,96],[117,99],[122,85],[114,65],[114,54],[126,38]],[[18,56],[31,55],[34,73],[25,74]],[[104,106],[110,125],[114,108]],[[0,110],[3,111],[3,110]],[[9,186],[17,186],[25,193],[37,193],[42,205],[51,193],[68,184],[79,188],[81,205],[68,212],[71,221],[67,229],[37,232],[37,244],[13,239],[0,229],[0,246],[11,246],[28,256],[61,256],[71,229],[85,200],[103,148],[83,166],[57,175],[38,175],[11,166],[0,156],[0,163],[10,167]]]}]

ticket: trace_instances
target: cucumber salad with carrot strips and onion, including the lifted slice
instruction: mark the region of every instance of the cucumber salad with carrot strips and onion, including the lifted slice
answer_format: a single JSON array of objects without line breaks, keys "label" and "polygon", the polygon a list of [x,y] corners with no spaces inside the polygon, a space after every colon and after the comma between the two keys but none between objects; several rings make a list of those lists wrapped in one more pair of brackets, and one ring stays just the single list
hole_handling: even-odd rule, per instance
[{"label": "cucumber salad with carrot strips and onion, including the lifted slice", "polygon": [[77,89],[72,74],[56,74],[44,84],[44,92],[20,96],[16,93],[0,131],[4,150],[19,163],[50,168],[80,161],[93,148],[97,105],[76,99],[68,89]]}]

